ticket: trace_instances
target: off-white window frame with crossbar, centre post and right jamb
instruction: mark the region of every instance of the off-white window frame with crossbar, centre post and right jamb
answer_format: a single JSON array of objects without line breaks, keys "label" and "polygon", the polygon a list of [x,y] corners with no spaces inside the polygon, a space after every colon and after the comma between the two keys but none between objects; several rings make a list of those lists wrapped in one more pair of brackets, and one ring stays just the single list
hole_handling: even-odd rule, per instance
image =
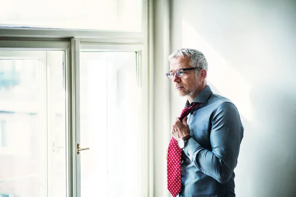
[{"label": "off-white window frame with crossbar, centre post and right jamb", "polygon": [[[149,3],[149,4],[148,4]],[[149,7],[149,9],[148,9]],[[70,31],[49,29],[22,29],[0,28],[0,49],[40,49],[65,51],[65,86],[69,90],[66,96],[66,152],[67,152],[67,197],[78,197],[80,188],[76,188],[78,159],[76,157],[76,144],[79,141],[79,132],[75,122],[77,113],[77,79],[75,70],[79,68],[79,52],[82,51],[132,51],[137,52],[138,82],[141,87],[139,97],[142,99],[141,109],[141,197],[153,197],[153,94],[152,88],[152,35],[150,14],[152,3],[142,0],[142,31],[115,32],[115,31]],[[77,72],[76,72],[77,73]],[[79,77],[79,76],[78,76]],[[78,103],[79,104],[79,103]],[[72,121],[73,120],[73,121]],[[78,133],[78,134],[77,134]],[[77,190],[78,189],[78,190]]]}]

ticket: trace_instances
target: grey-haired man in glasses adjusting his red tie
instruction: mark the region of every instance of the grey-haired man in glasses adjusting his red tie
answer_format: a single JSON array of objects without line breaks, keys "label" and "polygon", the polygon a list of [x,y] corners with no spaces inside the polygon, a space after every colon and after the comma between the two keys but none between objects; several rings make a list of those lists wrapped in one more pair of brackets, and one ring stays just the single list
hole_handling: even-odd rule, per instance
[{"label": "grey-haired man in glasses adjusting his red tie", "polygon": [[171,157],[178,158],[177,153],[172,156],[173,146],[168,151],[168,189],[179,197],[235,197],[233,170],[244,131],[238,110],[229,99],[212,92],[201,52],[180,49],[169,61],[171,71],[166,75],[187,98],[183,112],[190,114],[188,118],[182,114],[172,126],[170,146],[175,143],[180,149],[181,191],[178,177],[172,177],[172,170],[178,176],[178,167],[170,163]]}]

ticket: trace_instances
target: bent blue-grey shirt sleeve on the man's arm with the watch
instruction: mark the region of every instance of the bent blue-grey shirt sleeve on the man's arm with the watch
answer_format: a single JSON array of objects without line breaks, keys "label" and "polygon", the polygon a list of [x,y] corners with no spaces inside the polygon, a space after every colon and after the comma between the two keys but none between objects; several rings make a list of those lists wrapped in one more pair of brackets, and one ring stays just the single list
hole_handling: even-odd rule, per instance
[{"label": "bent blue-grey shirt sleeve on the man's arm with the watch", "polygon": [[190,138],[184,153],[203,173],[225,183],[236,166],[243,130],[237,108],[231,102],[222,103],[212,115],[212,151]]}]

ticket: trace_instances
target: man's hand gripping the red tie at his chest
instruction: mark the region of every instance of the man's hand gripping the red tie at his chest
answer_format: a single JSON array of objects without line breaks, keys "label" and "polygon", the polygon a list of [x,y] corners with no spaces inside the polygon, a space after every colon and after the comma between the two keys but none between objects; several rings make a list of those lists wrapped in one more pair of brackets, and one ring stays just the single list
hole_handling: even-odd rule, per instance
[{"label": "man's hand gripping the red tie at his chest", "polygon": [[176,118],[176,121],[172,126],[171,133],[176,140],[189,135],[190,130],[189,126],[187,125],[187,117],[183,119],[183,122],[181,122],[179,118]]}]

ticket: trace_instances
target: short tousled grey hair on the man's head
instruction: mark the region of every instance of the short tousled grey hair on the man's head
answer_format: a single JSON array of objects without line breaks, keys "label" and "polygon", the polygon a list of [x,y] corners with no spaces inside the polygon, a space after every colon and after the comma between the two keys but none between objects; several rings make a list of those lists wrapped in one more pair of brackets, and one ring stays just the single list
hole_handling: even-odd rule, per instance
[{"label": "short tousled grey hair on the man's head", "polygon": [[[175,52],[173,52],[169,57],[169,61],[171,62],[174,58],[179,57],[188,57],[190,58],[189,65],[192,67],[201,67],[204,68],[206,71],[208,71],[208,61],[204,54],[196,49],[179,49]],[[199,69],[195,70],[195,73],[197,74],[199,72]]]}]

